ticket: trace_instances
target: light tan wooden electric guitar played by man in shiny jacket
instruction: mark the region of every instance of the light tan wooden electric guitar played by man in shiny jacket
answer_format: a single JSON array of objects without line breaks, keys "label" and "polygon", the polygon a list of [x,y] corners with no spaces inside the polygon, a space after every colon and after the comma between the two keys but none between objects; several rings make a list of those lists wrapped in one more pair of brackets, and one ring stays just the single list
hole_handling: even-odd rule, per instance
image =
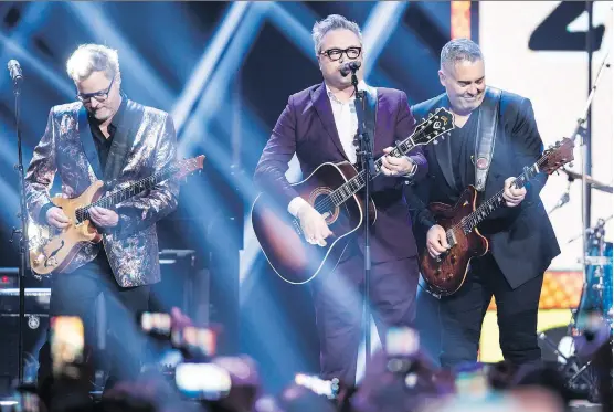
[{"label": "light tan wooden electric guitar played by man in shiny jacket", "polygon": [[103,235],[89,221],[89,209],[100,207],[112,209],[156,184],[168,179],[182,179],[188,175],[202,169],[204,156],[178,161],[176,165],[160,170],[152,176],[138,180],[129,186],[117,188],[104,194],[102,180],[92,183],[81,196],[65,199],[60,196],[51,199],[52,203],[62,208],[70,220],[68,226],[57,230],[51,226],[40,226],[38,235],[31,236],[30,265],[38,275],[62,273],[72,262],[76,253],[88,242],[98,243]]}]

